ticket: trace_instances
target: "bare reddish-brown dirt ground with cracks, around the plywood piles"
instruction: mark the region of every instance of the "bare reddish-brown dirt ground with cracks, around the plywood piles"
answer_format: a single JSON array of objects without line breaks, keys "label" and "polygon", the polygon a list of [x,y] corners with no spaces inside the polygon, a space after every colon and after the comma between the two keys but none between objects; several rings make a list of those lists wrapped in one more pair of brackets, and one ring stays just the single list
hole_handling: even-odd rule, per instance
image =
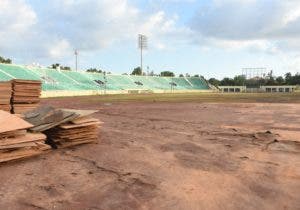
[{"label": "bare reddish-brown dirt ground with cracks, around the plywood piles", "polygon": [[0,166],[0,209],[300,209],[300,104],[43,100],[99,143]]}]

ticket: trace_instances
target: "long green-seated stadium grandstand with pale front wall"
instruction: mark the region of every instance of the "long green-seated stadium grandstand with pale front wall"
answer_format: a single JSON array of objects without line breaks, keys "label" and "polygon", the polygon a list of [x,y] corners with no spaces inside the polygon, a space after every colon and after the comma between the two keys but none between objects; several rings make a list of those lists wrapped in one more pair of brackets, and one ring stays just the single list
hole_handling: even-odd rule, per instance
[{"label": "long green-seated stadium grandstand with pale front wall", "polygon": [[211,91],[202,77],[158,77],[67,71],[0,64],[0,81],[42,81],[42,97]]}]

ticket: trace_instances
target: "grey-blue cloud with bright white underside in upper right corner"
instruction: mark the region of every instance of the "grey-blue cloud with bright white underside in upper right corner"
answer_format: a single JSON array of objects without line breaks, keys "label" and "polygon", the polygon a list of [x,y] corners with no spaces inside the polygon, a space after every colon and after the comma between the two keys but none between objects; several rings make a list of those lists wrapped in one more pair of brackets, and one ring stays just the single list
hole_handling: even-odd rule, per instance
[{"label": "grey-blue cloud with bright white underside in upper right corner", "polygon": [[300,1],[214,0],[202,5],[191,29],[202,44],[213,40],[226,48],[268,53],[296,50],[292,43],[300,41]]}]

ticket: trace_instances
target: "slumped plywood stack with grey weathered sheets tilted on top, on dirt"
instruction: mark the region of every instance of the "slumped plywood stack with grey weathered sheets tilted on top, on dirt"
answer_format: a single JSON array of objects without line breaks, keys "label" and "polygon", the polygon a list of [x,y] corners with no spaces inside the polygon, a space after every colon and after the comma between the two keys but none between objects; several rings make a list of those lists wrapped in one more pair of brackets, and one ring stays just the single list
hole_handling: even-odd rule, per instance
[{"label": "slumped plywood stack with grey weathered sheets tilted on top, on dirt", "polygon": [[53,148],[64,148],[97,141],[102,122],[91,117],[95,112],[45,106],[26,113],[24,119],[34,125],[30,130],[43,131]]}]

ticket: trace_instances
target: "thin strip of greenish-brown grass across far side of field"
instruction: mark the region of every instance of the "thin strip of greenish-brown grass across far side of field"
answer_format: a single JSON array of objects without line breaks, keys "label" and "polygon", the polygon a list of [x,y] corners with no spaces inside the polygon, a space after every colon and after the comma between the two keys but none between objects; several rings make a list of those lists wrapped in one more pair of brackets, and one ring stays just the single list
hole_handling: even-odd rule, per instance
[{"label": "thin strip of greenish-brown grass across far side of field", "polygon": [[[165,93],[82,96],[82,102],[300,103],[295,93]],[[63,98],[55,98],[59,100]]]}]

